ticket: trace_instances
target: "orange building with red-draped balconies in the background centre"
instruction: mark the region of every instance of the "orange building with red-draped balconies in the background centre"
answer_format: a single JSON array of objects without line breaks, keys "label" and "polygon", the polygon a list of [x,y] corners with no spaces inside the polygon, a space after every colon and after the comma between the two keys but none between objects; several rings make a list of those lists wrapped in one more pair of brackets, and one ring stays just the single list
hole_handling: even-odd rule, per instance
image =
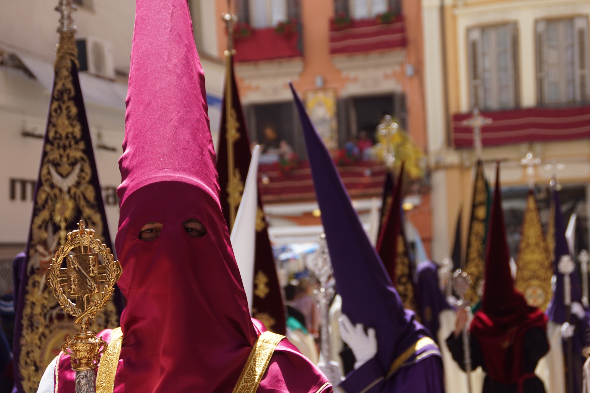
[{"label": "orange building with red-draped balconies in the background centre", "polygon": [[[203,0],[201,0],[203,1]],[[424,123],[421,4],[412,0],[238,0],[232,12],[235,72],[250,140],[267,153],[285,141],[301,166],[286,174],[261,158],[261,193],[276,243],[314,241],[320,212],[306,167],[303,134],[289,90],[292,81],[331,150],[348,141],[373,139],[383,115],[392,115],[421,148]],[[216,0],[217,14],[227,2]],[[227,48],[225,25],[217,29],[217,53]],[[319,103],[319,104],[318,104]],[[362,160],[361,160],[362,161]],[[339,167],[361,219],[369,226],[373,197],[381,203],[382,164]],[[430,250],[430,194],[409,212]]]}]

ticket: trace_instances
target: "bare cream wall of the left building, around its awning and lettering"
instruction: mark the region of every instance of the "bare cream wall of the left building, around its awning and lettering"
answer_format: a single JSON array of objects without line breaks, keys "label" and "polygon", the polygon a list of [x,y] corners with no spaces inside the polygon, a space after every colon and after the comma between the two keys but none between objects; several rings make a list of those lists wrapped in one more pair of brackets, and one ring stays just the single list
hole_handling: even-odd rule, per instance
[{"label": "bare cream wall of the left building, around its awning and lettering", "polygon": [[[210,0],[204,8],[211,8]],[[53,62],[58,34],[55,29],[59,15],[53,10],[57,0],[0,0],[0,47],[15,49]],[[203,19],[211,19],[205,9]],[[78,35],[107,39],[113,43],[114,63],[121,71],[129,70],[129,55],[135,21],[133,0],[93,0],[93,9],[79,7],[73,14]],[[210,24],[210,22],[207,22]],[[208,24],[205,25],[208,25]],[[201,25],[200,21],[194,21]],[[204,26],[205,26],[204,25]],[[208,44],[211,47],[211,43]],[[215,43],[217,46],[217,43]],[[211,48],[209,48],[211,49]],[[214,60],[202,60],[207,94],[221,97],[224,66]],[[84,91],[82,92],[84,94]],[[211,100],[209,117],[217,142],[219,104]],[[50,92],[23,71],[0,67],[0,243],[26,242],[31,220],[32,191],[26,200],[20,199],[17,185],[16,200],[10,198],[10,179],[37,179],[42,140],[21,136],[22,128],[42,134],[47,123]],[[86,102],[86,113],[94,145],[97,171],[101,186],[116,187],[120,183],[118,160],[124,134],[124,111]],[[117,148],[107,151],[96,148],[97,133],[102,143]],[[103,193],[104,197],[104,193]],[[119,220],[117,206],[106,206],[109,230],[114,240]]]}]

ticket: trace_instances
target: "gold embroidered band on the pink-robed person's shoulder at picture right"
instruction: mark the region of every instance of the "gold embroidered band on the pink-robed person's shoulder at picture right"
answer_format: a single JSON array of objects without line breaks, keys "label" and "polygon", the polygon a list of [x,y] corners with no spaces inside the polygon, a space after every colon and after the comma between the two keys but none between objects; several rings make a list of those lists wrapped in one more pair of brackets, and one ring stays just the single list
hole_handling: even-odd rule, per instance
[{"label": "gold embroidered band on the pink-robed person's shoulder at picture right", "polygon": [[232,393],[255,393],[257,391],[274,349],[284,338],[285,336],[273,332],[264,332],[258,336]]}]

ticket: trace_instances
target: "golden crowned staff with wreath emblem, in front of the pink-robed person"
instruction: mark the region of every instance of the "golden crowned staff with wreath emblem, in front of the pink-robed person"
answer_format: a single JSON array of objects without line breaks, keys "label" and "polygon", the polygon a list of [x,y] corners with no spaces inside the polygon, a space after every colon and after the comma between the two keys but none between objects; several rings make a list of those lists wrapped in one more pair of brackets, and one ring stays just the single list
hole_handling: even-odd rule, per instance
[{"label": "golden crowned staff with wreath emblem, in front of the pink-robed person", "polygon": [[84,226],[80,220],[78,229],[67,234],[45,280],[61,308],[80,324],[80,331],[61,346],[76,371],[76,393],[94,393],[94,370],[107,343],[89,330],[90,320],[113,295],[122,270],[109,247],[94,239],[94,230]]}]

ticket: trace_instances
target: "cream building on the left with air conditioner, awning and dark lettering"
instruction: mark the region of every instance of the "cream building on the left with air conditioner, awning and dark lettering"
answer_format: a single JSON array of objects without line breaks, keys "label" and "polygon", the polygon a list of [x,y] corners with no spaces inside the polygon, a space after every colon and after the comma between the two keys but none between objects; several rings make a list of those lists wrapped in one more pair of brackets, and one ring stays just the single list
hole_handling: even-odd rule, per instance
[{"label": "cream building on the left with air conditioner, awning and dark lettering", "polygon": [[[116,188],[122,153],[135,3],[74,0],[80,82],[112,239],[119,221]],[[0,5],[0,293],[9,290],[11,261],[24,250],[47,123],[59,15],[55,1]],[[205,69],[209,117],[217,140],[224,67],[217,58],[212,3],[191,4],[195,41]],[[83,55],[83,52],[86,55]]]}]

